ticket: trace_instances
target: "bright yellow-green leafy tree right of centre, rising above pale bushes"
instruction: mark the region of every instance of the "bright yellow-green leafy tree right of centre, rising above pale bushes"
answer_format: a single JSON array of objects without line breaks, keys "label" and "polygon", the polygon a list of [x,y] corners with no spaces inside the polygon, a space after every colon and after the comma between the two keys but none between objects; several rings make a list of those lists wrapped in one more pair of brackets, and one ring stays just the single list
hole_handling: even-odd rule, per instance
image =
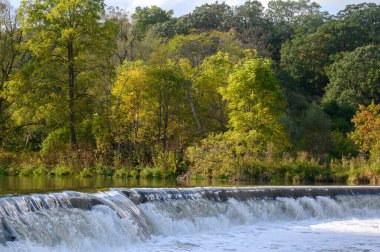
[{"label": "bright yellow-green leafy tree right of centre, rising above pale bushes", "polygon": [[269,59],[246,60],[235,67],[227,87],[221,90],[230,111],[229,127],[244,139],[248,150],[287,145],[284,127],[278,120],[284,100],[271,64]]}]

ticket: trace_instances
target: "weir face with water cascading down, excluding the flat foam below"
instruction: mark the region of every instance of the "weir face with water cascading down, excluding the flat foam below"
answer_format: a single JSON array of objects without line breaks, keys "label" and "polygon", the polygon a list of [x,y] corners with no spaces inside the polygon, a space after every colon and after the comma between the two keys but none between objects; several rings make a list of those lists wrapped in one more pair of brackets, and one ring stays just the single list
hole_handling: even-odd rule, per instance
[{"label": "weir face with water cascading down, excluding the flat foam below", "polygon": [[34,194],[0,198],[0,244],[54,246],[76,239],[73,229],[83,237],[108,239],[95,227],[109,233],[117,228],[121,237],[143,241],[216,225],[347,216],[380,216],[380,187],[115,188]]}]

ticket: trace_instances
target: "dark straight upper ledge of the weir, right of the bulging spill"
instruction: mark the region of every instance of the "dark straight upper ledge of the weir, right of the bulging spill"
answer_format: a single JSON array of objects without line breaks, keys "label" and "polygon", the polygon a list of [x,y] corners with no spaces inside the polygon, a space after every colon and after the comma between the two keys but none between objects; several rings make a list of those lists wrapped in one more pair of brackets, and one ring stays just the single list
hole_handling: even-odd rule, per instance
[{"label": "dark straight upper ledge of the weir, right of the bulging spill", "polygon": [[258,186],[198,188],[136,188],[120,189],[134,203],[149,201],[207,199],[213,201],[336,197],[338,195],[380,195],[380,186]]}]

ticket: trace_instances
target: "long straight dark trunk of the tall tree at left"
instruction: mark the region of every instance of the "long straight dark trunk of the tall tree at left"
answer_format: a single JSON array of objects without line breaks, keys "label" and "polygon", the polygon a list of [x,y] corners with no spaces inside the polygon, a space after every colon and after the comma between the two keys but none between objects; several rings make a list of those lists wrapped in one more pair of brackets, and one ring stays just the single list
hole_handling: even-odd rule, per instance
[{"label": "long straight dark trunk of the tall tree at left", "polygon": [[70,143],[71,148],[78,146],[75,132],[75,71],[74,71],[74,49],[73,43],[68,43],[68,61],[69,61],[69,124],[70,124]]}]

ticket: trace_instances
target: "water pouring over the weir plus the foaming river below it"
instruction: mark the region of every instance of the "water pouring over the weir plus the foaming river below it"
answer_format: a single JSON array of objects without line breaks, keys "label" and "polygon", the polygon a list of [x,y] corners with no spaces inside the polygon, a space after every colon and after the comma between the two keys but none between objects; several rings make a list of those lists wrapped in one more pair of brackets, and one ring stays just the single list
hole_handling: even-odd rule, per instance
[{"label": "water pouring over the weir plus the foaming river below it", "polygon": [[380,251],[380,187],[115,188],[0,198],[0,251]]}]

